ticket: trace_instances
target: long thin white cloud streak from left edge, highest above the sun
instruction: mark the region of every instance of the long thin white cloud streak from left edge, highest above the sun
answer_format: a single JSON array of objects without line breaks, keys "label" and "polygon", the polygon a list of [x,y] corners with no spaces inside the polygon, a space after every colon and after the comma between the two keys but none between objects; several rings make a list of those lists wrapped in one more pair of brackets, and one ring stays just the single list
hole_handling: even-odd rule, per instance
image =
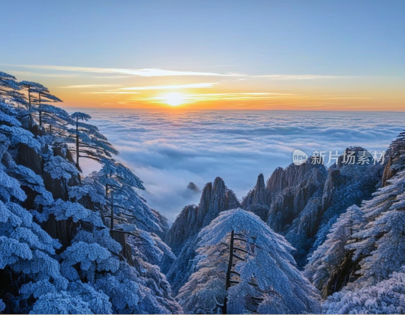
[{"label": "long thin white cloud streak from left edge, highest above the sun", "polygon": [[7,65],[14,67],[23,67],[29,69],[42,69],[54,71],[70,71],[70,72],[87,72],[87,73],[105,73],[105,74],[128,74],[136,76],[245,76],[239,73],[214,73],[214,72],[197,72],[197,71],[176,71],[164,70],[155,68],[145,69],[120,69],[120,68],[91,68],[91,67],[67,67],[67,66],[50,66],[50,65]]}]

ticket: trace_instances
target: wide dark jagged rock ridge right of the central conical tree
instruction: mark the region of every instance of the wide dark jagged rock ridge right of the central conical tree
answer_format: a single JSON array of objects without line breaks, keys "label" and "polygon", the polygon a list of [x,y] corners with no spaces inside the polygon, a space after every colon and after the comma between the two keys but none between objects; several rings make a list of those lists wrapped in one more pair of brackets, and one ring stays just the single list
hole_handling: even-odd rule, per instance
[{"label": "wide dark jagged rock ridge right of the central conical tree", "polygon": [[346,155],[348,151],[355,152],[355,164],[342,155],[329,169],[313,164],[311,159],[299,166],[278,167],[265,187],[260,174],[241,206],[285,235],[297,249],[297,263],[303,266],[315,240],[315,246],[323,241],[325,231],[319,232],[320,228],[327,230],[329,220],[336,220],[341,211],[352,204],[359,205],[375,191],[383,167],[372,163],[358,165],[358,152],[362,150],[365,149],[346,149]]}]

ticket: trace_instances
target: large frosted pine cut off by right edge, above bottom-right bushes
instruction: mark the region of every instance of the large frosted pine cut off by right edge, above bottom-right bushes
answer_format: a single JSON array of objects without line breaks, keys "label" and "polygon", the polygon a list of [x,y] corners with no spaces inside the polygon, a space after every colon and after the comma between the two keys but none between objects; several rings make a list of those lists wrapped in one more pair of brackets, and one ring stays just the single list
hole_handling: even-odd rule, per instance
[{"label": "large frosted pine cut off by right edge, above bottom-right bushes", "polygon": [[364,257],[357,282],[386,280],[405,264],[405,171],[388,183],[363,205],[368,223],[353,235],[357,242],[347,245],[354,250],[353,259]]}]

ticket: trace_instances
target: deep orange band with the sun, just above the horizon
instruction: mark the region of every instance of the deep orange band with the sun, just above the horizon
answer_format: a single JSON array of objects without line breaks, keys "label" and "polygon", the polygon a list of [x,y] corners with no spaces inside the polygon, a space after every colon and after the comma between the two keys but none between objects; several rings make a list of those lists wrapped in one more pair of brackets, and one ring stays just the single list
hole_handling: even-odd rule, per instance
[{"label": "deep orange band with the sun, just above the horizon", "polygon": [[[60,93],[61,92],[61,93]],[[142,93],[78,94],[55,93],[66,107],[161,109],[161,110],[318,110],[318,111],[405,111],[405,98],[370,94],[322,94],[271,92],[207,93],[175,89]]]}]

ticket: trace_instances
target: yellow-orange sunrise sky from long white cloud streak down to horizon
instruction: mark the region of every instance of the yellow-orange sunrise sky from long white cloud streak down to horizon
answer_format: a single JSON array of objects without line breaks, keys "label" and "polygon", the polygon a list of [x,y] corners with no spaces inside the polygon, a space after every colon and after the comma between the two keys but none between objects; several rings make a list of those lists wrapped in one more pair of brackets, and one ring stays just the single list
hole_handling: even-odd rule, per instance
[{"label": "yellow-orange sunrise sky from long white cloud streak down to horizon", "polygon": [[[4,70],[18,80],[46,85],[64,101],[60,106],[67,108],[405,111],[404,82],[395,77],[37,67],[42,68],[34,72]],[[47,73],[50,67],[52,72]],[[117,77],[111,71],[131,75]],[[99,73],[106,74],[98,77]]]}]

